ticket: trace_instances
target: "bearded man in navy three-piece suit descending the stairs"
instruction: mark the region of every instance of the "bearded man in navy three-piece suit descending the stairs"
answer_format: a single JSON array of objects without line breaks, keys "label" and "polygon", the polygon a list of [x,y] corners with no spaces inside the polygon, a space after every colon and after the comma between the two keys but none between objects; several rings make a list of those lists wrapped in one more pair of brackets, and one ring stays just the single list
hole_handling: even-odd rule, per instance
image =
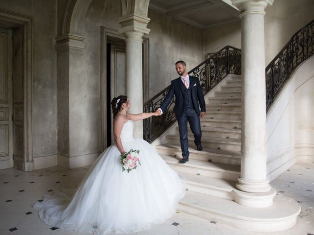
[{"label": "bearded man in navy three-piece suit descending the stairs", "polygon": [[[177,79],[171,81],[168,94],[163,103],[160,105],[161,112],[166,110],[173,95],[176,96],[176,105],[174,108],[175,115],[179,125],[180,143],[182,150],[182,160],[180,163],[188,161],[188,140],[187,140],[187,121],[190,124],[192,133],[194,134],[194,142],[196,149],[203,150],[202,147],[202,131],[200,117],[203,118],[206,113],[204,95],[201,85],[197,77],[187,74],[186,64],[180,60],[176,63],[176,71],[180,75]],[[201,112],[200,112],[201,107]]]}]

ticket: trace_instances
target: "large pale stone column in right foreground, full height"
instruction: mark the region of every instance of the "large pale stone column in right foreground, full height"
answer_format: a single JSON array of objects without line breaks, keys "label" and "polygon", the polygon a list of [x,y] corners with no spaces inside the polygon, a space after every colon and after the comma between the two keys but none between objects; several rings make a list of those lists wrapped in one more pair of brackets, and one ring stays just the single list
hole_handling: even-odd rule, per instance
[{"label": "large pale stone column in right foreground, full height", "polygon": [[[242,145],[241,174],[236,187],[245,193],[236,193],[235,201],[251,207],[272,204],[275,190],[266,175],[266,98],[264,9],[274,0],[233,0],[241,18],[242,56]],[[252,194],[250,194],[252,193]],[[267,200],[259,205],[263,193]],[[266,193],[266,194],[265,194]],[[245,196],[244,196],[245,195]],[[243,200],[246,198],[248,200]],[[249,199],[250,198],[250,199]],[[253,201],[254,201],[253,200]]]}]

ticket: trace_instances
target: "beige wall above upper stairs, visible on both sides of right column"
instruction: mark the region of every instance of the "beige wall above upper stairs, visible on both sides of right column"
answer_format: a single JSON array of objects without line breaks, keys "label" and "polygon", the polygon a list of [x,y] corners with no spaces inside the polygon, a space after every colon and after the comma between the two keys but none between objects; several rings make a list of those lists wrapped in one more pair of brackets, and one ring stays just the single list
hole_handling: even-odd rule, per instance
[{"label": "beige wall above upper stairs, visible on both sides of right column", "polygon": [[[314,19],[313,0],[275,0],[265,9],[265,65],[280,52],[293,34]],[[241,48],[241,24],[228,24],[205,30],[205,53],[227,45]]]}]

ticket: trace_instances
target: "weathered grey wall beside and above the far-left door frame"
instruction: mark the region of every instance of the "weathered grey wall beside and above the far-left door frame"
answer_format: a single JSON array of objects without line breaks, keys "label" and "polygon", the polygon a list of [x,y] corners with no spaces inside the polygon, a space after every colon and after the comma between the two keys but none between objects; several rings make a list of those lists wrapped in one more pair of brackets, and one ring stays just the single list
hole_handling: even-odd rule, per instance
[{"label": "weathered grey wall beside and above the far-left door frame", "polygon": [[1,0],[0,9],[32,18],[32,120],[33,156],[55,158],[56,61],[54,0]]}]

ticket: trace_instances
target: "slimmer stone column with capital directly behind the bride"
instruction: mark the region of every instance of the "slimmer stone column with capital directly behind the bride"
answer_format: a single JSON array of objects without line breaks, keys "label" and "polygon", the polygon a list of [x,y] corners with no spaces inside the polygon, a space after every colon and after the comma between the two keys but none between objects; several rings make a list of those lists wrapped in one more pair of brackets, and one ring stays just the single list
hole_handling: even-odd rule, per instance
[{"label": "slimmer stone column with capital directly behind the bride", "polygon": [[[135,14],[121,17],[119,32],[126,36],[126,91],[131,102],[129,113],[143,112],[142,37],[149,33],[149,18]],[[134,123],[134,137],[143,138],[143,121]]]}]

